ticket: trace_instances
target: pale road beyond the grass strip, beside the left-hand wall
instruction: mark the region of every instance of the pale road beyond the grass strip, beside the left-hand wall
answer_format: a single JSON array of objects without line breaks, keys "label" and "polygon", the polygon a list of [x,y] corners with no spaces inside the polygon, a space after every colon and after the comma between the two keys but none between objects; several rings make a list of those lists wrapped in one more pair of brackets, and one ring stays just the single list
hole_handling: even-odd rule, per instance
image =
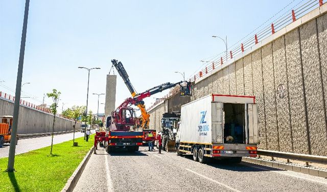
[{"label": "pale road beyond the grass strip, beside the left-hand wall", "polygon": [[[80,132],[75,133],[75,138],[82,137],[82,136],[84,136],[84,133],[80,133]],[[64,141],[69,141],[72,139],[73,139],[73,133],[55,135],[53,137],[53,143],[54,144],[62,143]],[[0,158],[8,157],[9,145],[10,145],[9,143],[6,143],[2,148],[0,148]],[[18,140],[15,154],[17,155],[21,153],[26,153],[50,145],[51,145],[51,136],[21,139]]]}]

